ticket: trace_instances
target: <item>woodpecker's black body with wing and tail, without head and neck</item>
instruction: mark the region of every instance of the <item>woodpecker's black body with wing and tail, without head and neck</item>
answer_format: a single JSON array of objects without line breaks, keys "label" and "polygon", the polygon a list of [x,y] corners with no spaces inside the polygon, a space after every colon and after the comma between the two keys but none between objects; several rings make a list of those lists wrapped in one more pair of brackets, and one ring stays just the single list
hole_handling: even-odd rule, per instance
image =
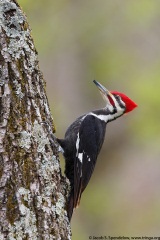
[{"label": "woodpecker's black body with wing and tail, without head and neck", "polygon": [[97,110],[93,112],[94,115],[89,113],[79,117],[67,129],[65,138],[57,139],[64,150],[65,174],[71,184],[67,204],[69,220],[73,208],[80,203],[81,194],[91,178],[104,141],[106,122],[95,116],[102,113],[104,110]]}]

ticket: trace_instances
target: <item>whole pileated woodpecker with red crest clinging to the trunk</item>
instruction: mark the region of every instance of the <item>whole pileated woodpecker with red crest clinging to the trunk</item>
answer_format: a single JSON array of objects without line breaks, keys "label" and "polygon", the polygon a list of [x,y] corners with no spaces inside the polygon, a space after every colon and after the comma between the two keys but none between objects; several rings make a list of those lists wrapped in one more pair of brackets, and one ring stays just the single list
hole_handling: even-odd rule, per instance
[{"label": "whole pileated woodpecker with red crest clinging to the trunk", "polygon": [[79,205],[82,192],[93,173],[104,141],[107,123],[137,107],[137,104],[123,93],[109,92],[96,80],[93,82],[106,101],[106,107],[77,118],[67,129],[65,138],[57,139],[63,149],[65,174],[71,185],[67,204],[69,220],[73,209]]}]

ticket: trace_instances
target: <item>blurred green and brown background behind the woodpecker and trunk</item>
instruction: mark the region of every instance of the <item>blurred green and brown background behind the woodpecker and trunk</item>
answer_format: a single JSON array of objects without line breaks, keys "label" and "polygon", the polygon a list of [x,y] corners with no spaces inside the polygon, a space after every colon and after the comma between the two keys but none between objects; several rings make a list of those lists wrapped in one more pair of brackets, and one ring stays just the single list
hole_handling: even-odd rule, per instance
[{"label": "blurred green and brown background behind the woodpecker and trunk", "polygon": [[93,79],[139,106],[107,126],[73,215],[73,240],[160,236],[160,1],[18,2],[32,28],[58,137],[78,116],[104,106]]}]

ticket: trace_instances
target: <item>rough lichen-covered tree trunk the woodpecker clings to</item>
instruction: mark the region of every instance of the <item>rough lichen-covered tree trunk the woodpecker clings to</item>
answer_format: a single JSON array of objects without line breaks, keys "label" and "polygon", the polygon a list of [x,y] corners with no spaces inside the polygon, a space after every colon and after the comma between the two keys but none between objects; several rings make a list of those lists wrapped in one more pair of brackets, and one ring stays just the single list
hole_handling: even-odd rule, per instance
[{"label": "rough lichen-covered tree trunk the woodpecker clings to", "polygon": [[[43,36],[42,36],[43,37]],[[0,0],[0,239],[70,239],[53,121],[26,17]]]}]

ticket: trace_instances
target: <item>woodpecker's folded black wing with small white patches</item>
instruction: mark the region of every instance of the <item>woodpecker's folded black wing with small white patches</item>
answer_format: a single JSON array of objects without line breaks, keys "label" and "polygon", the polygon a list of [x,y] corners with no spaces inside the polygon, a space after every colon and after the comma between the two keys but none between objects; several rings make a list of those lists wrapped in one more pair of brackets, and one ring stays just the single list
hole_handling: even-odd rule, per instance
[{"label": "woodpecker's folded black wing with small white patches", "polygon": [[74,162],[74,208],[79,205],[81,194],[93,173],[104,141],[105,128],[105,122],[93,115],[87,115],[81,123]]}]

